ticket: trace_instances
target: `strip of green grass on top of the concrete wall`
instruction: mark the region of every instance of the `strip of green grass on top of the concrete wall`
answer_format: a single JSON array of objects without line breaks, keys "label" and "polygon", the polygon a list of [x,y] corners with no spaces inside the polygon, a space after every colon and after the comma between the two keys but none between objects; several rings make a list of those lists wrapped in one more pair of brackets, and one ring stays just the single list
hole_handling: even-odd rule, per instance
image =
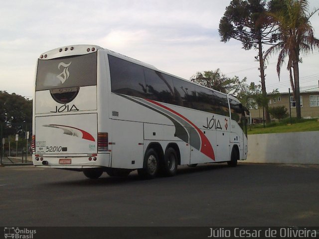
[{"label": "strip of green grass on top of the concrete wall", "polygon": [[284,119],[269,123],[265,128],[263,124],[250,125],[250,129],[248,127],[248,134],[303,131],[319,131],[319,121],[317,119],[293,119],[292,124],[290,124],[290,119]]}]

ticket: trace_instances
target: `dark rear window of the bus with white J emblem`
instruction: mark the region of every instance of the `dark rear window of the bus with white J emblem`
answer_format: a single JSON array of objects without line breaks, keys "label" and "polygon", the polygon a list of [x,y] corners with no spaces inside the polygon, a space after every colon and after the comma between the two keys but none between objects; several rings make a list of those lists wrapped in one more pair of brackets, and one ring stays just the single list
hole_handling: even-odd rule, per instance
[{"label": "dark rear window of the bus with white J emblem", "polygon": [[38,61],[36,91],[96,85],[97,52]]}]

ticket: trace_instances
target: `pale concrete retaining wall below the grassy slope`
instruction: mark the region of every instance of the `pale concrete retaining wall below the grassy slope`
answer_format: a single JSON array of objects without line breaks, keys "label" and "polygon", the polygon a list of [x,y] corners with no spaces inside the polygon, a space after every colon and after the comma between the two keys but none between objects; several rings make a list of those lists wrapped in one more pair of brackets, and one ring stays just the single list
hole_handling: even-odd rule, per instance
[{"label": "pale concrete retaining wall below the grassy slope", "polygon": [[319,131],[248,135],[251,163],[319,164]]}]

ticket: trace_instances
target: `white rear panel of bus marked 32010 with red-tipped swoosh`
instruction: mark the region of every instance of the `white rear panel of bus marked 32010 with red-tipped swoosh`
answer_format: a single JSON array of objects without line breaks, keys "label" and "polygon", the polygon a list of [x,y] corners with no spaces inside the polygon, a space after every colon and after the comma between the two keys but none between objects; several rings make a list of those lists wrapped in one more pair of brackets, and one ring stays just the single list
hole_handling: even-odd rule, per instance
[{"label": "white rear panel of bus marked 32010 with red-tipped swoosh", "polygon": [[97,114],[35,117],[35,153],[97,153]]}]

